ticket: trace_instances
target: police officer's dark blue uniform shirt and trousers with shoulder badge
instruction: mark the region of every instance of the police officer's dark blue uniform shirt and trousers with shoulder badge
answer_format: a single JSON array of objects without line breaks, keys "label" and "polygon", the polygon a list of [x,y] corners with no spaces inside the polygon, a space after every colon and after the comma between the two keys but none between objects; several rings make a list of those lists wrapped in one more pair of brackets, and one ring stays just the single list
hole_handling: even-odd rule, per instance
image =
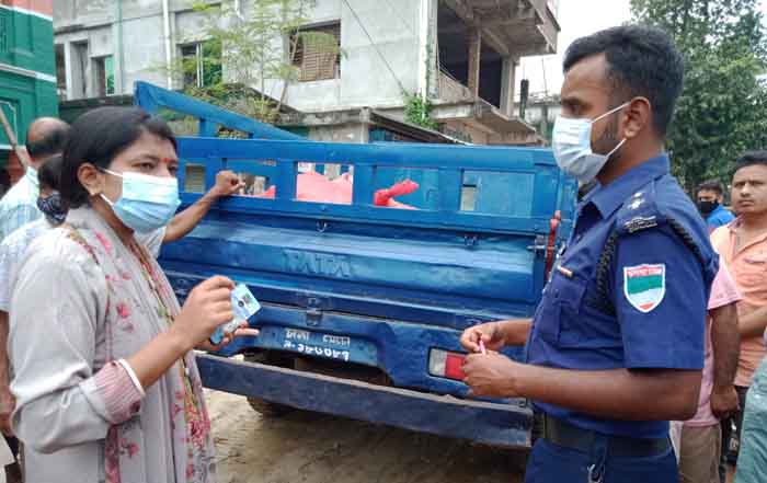
[{"label": "police officer's dark blue uniform shirt and trousers with shoulder badge", "polygon": [[[574,370],[703,367],[719,257],[667,156],[589,193],[543,290],[529,364]],[[526,482],[678,481],[668,422],[615,421],[534,402]]]}]

